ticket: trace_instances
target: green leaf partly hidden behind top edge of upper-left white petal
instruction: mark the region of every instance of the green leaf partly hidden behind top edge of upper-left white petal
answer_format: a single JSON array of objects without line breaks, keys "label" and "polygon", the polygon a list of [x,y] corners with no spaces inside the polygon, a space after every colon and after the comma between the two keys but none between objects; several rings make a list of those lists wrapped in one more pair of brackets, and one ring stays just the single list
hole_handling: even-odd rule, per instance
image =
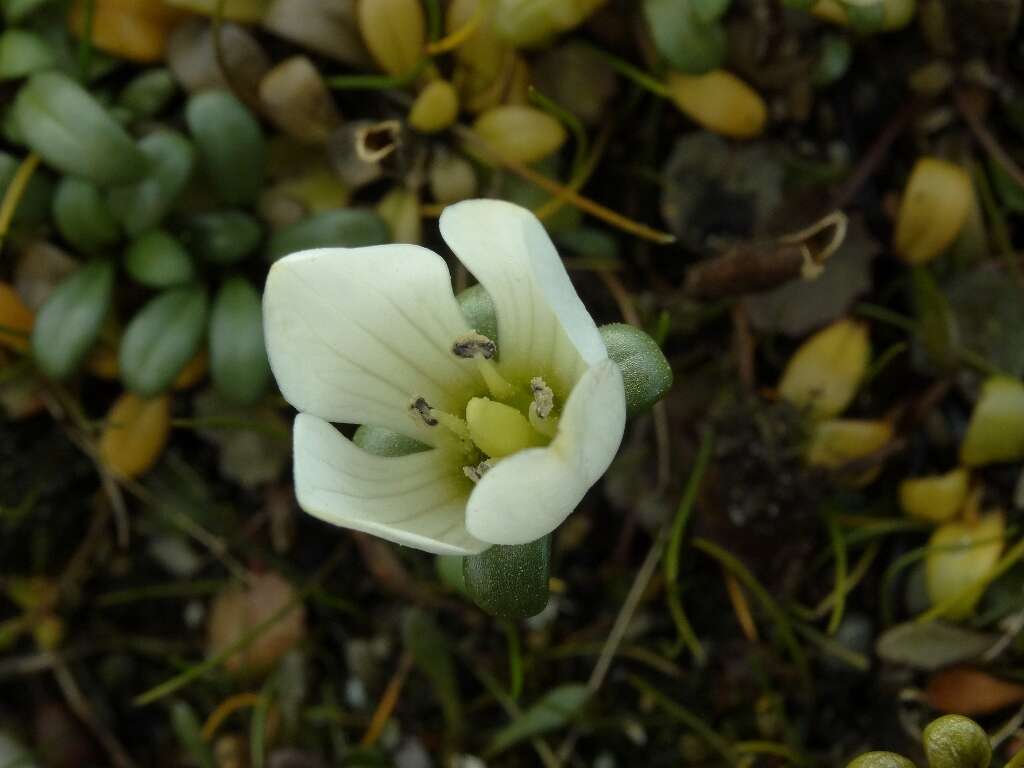
[{"label": "green leaf partly hidden behind top edge of upper-left white petal", "polygon": [[309,248],[359,248],[391,240],[387,223],[366,209],[325,211],[279,229],[267,245],[267,259],[276,261]]}]

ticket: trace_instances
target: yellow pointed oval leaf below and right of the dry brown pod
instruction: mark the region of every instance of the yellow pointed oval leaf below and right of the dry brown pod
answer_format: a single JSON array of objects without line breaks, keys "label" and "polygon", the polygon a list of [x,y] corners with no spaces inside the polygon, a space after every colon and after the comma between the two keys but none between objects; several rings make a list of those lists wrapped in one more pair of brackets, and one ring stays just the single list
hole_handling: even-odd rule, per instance
[{"label": "yellow pointed oval leaf below and right of the dry brown pod", "polygon": [[857,392],[870,351],[865,324],[834,323],[805,341],[790,358],[778,393],[815,419],[839,416]]}]

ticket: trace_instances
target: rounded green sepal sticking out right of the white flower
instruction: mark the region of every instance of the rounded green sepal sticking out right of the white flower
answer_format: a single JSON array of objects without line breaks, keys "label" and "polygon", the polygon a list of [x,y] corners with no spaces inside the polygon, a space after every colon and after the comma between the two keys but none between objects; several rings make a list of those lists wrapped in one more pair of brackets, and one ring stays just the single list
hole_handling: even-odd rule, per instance
[{"label": "rounded green sepal sticking out right of the white flower", "polygon": [[623,372],[627,414],[642,414],[672,388],[672,367],[657,342],[639,328],[611,323],[598,330],[608,357]]}]

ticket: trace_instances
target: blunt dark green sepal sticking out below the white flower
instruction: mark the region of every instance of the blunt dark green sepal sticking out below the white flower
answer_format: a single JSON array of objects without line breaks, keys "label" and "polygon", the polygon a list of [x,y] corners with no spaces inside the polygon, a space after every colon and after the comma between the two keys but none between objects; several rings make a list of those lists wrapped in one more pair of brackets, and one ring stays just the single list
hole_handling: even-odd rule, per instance
[{"label": "blunt dark green sepal sticking out below the white flower", "polygon": [[462,562],[466,590],[499,618],[527,618],[548,604],[551,535],[529,544],[495,545]]}]

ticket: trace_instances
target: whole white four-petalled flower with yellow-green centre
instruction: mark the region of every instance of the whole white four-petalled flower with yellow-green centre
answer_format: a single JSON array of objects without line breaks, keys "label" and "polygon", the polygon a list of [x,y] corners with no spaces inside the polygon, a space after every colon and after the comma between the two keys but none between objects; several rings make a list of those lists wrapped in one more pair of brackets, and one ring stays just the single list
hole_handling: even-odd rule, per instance
[{"label": "whole white four-petalled flower with yellow-green centre", "polygon": [[[440,231],[494,300],[467,326],[437,254],[324,248],[278,261],[263,316],[295,420],[295,493],[316,517],[428,552],[476,554],[554,530],[622,442],[622,374],[544,226],[500,201],[447,208]],[[332,422],[432,450],[385,458]]]}]

